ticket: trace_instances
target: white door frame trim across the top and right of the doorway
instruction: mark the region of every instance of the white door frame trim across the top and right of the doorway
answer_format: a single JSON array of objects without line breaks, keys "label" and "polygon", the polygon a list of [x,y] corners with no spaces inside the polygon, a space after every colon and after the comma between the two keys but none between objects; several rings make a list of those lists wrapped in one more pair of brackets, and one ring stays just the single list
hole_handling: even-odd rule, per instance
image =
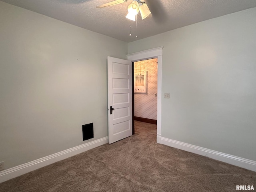
[{"label": "white door frame trim across the top and right of the doorway", "polygon": [[157,58],[157,136],[156,142],[161,143],[162,128],[162,49],[157,47],[127,55],[127,59],[136,62],[140,60]]}]

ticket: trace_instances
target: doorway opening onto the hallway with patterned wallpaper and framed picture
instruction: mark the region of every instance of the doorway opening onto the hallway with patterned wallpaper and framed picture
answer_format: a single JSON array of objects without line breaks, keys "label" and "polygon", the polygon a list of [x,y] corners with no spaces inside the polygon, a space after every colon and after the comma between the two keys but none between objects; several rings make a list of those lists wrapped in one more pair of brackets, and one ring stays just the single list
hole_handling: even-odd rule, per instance
[{"label": "doorway opening onto the hallway with patterned wallpaper and framed picture", "polygon": [[158,58],[133,62],[132,71],[132,134],[134,134],[136,131],[134,121],[157,124]]}]

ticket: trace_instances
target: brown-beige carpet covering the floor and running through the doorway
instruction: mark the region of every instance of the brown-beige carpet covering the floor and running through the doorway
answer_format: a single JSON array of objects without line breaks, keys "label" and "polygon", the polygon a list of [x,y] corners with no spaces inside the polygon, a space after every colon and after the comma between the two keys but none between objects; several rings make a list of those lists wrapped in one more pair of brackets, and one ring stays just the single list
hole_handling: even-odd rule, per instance
[{"label": "brown-beige carpet covering the floor and running through the doorway", "polygon": [[[0,192],[232,192],[256,172],[156,143],[156,125],[0,184]],[[255,189],[256,190],[256,189]]]}]

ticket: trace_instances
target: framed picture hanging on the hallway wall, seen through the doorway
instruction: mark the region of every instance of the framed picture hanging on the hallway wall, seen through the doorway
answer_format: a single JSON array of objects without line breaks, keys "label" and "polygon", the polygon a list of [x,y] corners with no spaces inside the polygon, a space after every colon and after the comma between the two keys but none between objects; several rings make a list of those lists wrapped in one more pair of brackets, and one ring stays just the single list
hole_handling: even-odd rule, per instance
[{"label": "framed picture hanging on the hallway wall, seen through the doorway", "polygon": [[134,93],[147,93],[147,71],[134,72]]}]

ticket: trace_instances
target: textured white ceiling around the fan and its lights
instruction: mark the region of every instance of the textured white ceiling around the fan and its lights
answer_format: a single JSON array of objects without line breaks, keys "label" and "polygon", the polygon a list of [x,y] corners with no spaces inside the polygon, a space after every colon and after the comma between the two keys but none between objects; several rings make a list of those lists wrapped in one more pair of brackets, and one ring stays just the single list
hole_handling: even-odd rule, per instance
[{"label": "textured white ceiling around the fan and its lights", "polygon": [[139,13],[136,30],[136,22],[125,18],[132,0],[101,9],[96,6],[112,0],[2,1],[125,42],[256,7],[256,0],[145,0],[152,15],[142,20]]}]

